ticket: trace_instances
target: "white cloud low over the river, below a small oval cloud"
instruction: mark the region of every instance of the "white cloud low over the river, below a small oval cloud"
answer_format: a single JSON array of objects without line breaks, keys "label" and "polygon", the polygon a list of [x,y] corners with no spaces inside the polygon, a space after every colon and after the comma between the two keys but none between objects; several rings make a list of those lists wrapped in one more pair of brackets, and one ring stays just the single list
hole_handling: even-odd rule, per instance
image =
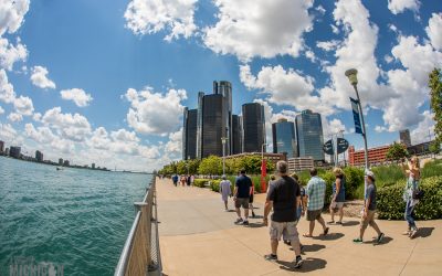
[{"label": "white cloud low over the river, below a small oval cloud", "polygon": [[44,113],[42,123],[55,128],[63,138],[73,141],[84,141],[91,134],[91,125],[86,117],[80,114],[63,114],[61,107],[54,107]]}]

